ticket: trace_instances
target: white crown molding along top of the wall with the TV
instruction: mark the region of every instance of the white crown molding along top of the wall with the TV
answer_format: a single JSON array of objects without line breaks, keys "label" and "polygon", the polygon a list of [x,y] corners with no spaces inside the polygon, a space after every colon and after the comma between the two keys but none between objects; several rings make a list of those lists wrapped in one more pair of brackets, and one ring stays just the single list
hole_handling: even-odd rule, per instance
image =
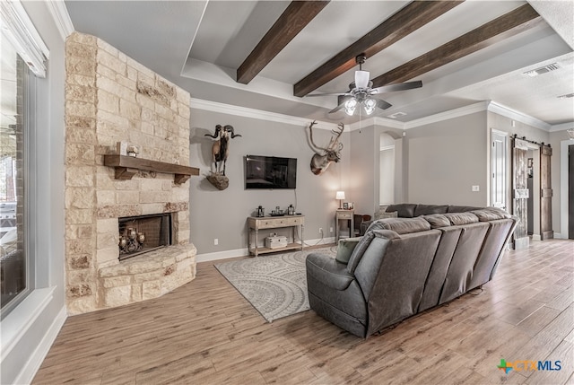
[{"label": "white crown molding along top of the wall with the TV", "polygon": [[[294,126],[307,127],[311,122],[308,118],[293,117],[275,112],[263,111],[261,109],[249,109],[247,107],[233,106],[230,104],[220,103],[217,101],[204,101],[203,99],[191,98],[189,103],[191,109],[204,109],[206,111],[219,112],[221,114],[234,115],[243,118],[254,118],[259,120],[285,123]],[[332,130],[336,128],[335,123],[322,122],[317,120],[314,128]]]}]

